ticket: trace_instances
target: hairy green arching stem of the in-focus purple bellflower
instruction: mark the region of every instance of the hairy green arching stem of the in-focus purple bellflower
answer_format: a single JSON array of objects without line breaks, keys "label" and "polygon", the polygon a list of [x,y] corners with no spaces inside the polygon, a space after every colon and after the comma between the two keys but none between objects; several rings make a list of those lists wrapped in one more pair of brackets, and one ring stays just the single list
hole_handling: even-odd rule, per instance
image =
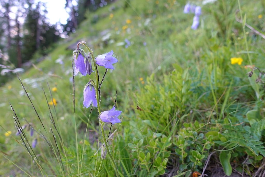
[{"label": "hairy green arching stem of the in-focus purple bellflower", "polygon": [[[93,55],[93,52],[90,50],[90,48],[84,43],[84,42],[79,42],[78,44],[77,44],[77,47],[79,46],[79,44],[83,44],[86,48],[87,48],[87,50],[89,51],[89,53],[91,53],[91,56],[92,56],[92,61],[93,61],[93,63],[94,63],[94,67],[95,67],[95,75],[96,75],[96,100],[97,100],[97,104],[98,104],[98,114],[100,114],[101,112],[100,112],[100,105],[99,105],[99,94],[98,94],[98,89],[99,89],[99,77],[98,77],[98,69],[97,69],[97,66],[96,66],[96,61],[95,61],[95,58],[94,58],[94,55]],[[113,158],[113,156],[112,156],[112,154],[111,154],[111,152],[110,152],[110,150],[109,150],[109,146],[108,146],[108,144],[107,144],[107,141],[106,141],[106,137],[105,137],[105,133],[104,133],[104,128],[103,128],[103,126],[104,126],[104,123],[101,121],[101,120],[99,120],[99,122],[100,122],[100,129],[101,129],[101,134],[102,134],[102,137],[103,137],[103,141],[104,141],[104,144],[106,145],[106,150],[107,150],[107,153],[109,154],[109,157],[110,157],[110,159],[111,159],[111,165],[113,166],[113,168],[114,168],[114,171],[115,171],[115,173],[116,173],[116,176],[119,176],[119,173],[118,173],[118,170],[117,170],[117,166],[116,166],[116,163],[115,163],[115,161],[114,161],[114,158]]]}]

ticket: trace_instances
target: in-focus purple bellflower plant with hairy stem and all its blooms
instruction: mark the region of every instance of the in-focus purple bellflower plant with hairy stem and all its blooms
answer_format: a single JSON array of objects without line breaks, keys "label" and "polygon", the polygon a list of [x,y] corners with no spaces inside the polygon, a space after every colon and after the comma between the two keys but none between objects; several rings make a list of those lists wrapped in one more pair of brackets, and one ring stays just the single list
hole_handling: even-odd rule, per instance
[{"label": "in-focus purple bellflower plant with hairy stem and all its blooms", "polygon": [[[85,48],[88,50],[88,53],[81,49],[79,47],[80,45],[85,46]],[[103,126],[105,123],[121,123],[121,120],[118,118],[118,116],[121,114],[121,111],[115,110],[115,106],[113,106],[112,109],[101,112],[99,94],[105,74],[107,73],[108,69],[114,70],[113,64],[117,63],[118,60],[116,59],[116,57],[113,56],[113,50],[109,51],[108,53],[94,57],[92,50],[90,50],[90,48],[86,45],[85,41],[79,42],[77,44],[77,49],[73,52],[73,60],[74,76],[77,75],[79,72],[83,76],[95,75],[95,80],[89,80],[85,85],[83,91],[83,107],[88,108],[90,106],[94,106],[98,109],[98,118],[101,128],[101,134],[104,140],[104,146],[111,159],[111,164],[115,170],[115,173],[117,176],[119,176],[114,158],[112,157],[111,151],[108,148]],[[105,74],[101,81],[99,79],[98,67],[106,68]]]}]

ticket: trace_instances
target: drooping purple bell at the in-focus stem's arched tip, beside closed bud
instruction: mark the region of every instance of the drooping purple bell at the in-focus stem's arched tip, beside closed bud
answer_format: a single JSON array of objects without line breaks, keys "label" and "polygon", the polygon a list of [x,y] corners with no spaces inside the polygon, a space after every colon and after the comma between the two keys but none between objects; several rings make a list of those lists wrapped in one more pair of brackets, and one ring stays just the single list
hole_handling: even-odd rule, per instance
[{"label": "drooping purple bell at the in-focus stem's arched tip, beside closed bud", "polygon": [[78,72],[80,72],[82,75],[87,75],[86,71],[86,64],[84,56],[81,54],[80,49],[76,49],[73,54],[74,58],[74,76],[77,75]]}]

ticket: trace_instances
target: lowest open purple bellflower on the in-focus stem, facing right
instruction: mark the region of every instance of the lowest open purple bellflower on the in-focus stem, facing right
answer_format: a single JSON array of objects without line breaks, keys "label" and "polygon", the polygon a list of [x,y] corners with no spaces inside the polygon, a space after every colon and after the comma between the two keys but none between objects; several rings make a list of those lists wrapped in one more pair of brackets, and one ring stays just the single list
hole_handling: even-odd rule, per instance
[{"label": "lowest open purple bellflower on the in-focus stem, facing right", "polygon": [[99,118],[103,122],[111,122],[112,124],[114,123],[121,123],[120,119],[118,119],[118,116],[121,114],[121,111],[115,111],[115,107],[111,110],[104,111],[99,115]]}]

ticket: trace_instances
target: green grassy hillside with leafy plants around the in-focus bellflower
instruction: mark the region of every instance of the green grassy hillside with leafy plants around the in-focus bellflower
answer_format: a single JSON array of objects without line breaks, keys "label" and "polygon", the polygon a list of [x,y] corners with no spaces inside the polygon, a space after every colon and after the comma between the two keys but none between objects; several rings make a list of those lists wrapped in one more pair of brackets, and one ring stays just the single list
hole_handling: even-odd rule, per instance
[{"label": "green grassy hillside with leafy plants around the in-focus bellflower", "polygon": [[[101,109],[112,108],[117,90],[121,123],[112,126],[108,144],[120,176],[262,175],[265,4],[191,1],[202,8],[193,30],[194,14],[183,13],[186,3],[117,1],[87,12],[76,33],[19,75],[42,123],[18,79],[1,87],[0,175],[115,175],[109,156],[100,156],[97,110],[83,108],[90,77],[75,76],[74,116],[71,61],[80,41],[94,55],[111,50],[117,55],[101,88]],[[100,78],[104,71],[99,68]],[[29,144],[37,142],[38,160],[15,135],[8,103],[27,125]],[[110,124],[104,128],[107,136]]]}]

